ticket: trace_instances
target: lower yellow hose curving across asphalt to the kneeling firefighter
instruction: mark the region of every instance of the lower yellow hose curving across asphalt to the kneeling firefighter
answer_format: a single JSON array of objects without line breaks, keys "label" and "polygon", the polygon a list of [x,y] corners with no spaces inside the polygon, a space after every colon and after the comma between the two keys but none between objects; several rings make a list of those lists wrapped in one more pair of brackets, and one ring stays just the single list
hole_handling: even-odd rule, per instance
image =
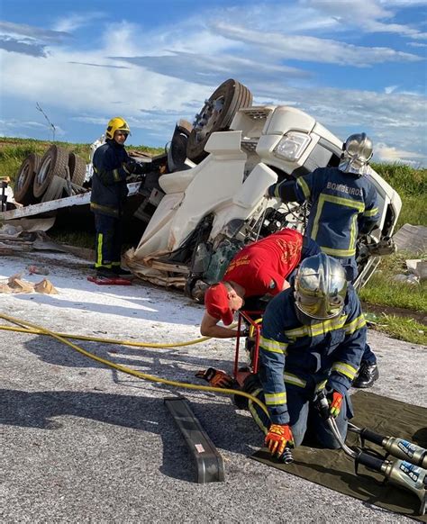
[{"label": "lower yellow hose curving across asphalt to the kneeling firefighter", "polygon": [[[75,349],[81,355],[84,355],[85,357],[88,357],[88,358],[92,358],[96,362],[100,362],[101,364],[104,364],[104,366],[112,367],[113,369],[116,369],[117,371],[122,371],[123,373],[126,373],[127,375],[133,375],[133,376],[136,376],[138,378],[141,378],[142,380],[148,380],[150,382],[158,382],[159,384],[168,384],[168,385],[172,385],[172,386],[175,386],[175,387],[182,387],[182,388],[185,388],[185,389],[195,389],[195,390],[209,391],[209,392],[213,392],[213,393],[223,393],[223,394],[230,394],[230,395],[231,394],[232,395],[239,394],[239,395],[241,395],[243,397],[246,397],[247,399],[251,400],[252,402],[255,402],[256,404],[258,404],[259,407],[261,408],[261,410],[264,411],[268,415],[268,410],[267,410],[265,404],[263,402],[259,401],[259,399],[257,397],[252,396],[250,393],[244,393],[242,391],[233,390],[233,389],[225,389],[225,388],[223,389],[223,388],[213,387],[213,386],[210,386],[210,385],[196,385],[196,384],[189,384],[189,383],[185,383],[185,382],[177,382],[177,381],[174,381],[174,380],[167,380],[166,378],[159,378],[158,376],[147,375],[145,373],[141,373],[141,371],[135,371],[135,370],[131,369],[130,367],[121,366],[120,364],[114,364],[114,362],[112,362],[111,360],[106,360],[105,358],[96,357],[92,353],[89,353],[88,351],[86,351],[86,349],[79,348],[76,344],[73,344],[72,342],[69,342],[69,340],[65,339],[63,336],[61,336],[61,335],[59,335],[59,334],[57,334],[57,333],[55,333],[53,331],[46,330],[45,328],[42,328],[41,326],[37,326],[36,324],[32,324],[31,322],[21,321],[19,319],[14,319],[14,317],[10,317],[10,316],[5,315],[3,313],[0,313],[0,318],[4,319],[5,321],[12,322],[13,324],[17,324],[19,326],[27,326],[27,327],[30,327],[32,329],[32,330],[20,329],[20,330],[16,330],[16,331],[35,332],[35,334],[39,334],[40,333],[40,334],[43,334],[43,335],[49,335],[53,339],[57,339],[57,340],[59,340],[59,342],[62,342],[63,344],[66,344],[70,348]],[[72,336],[72,337],[74,337],[74,336]],[[74,338],[77,338],[77,337],[74,337]],[[103,340],[103,339],[101,339],[101,340]],[[127,342],[126,342],[126,344],[127,344]],[[133,344],[135,344],[135,343],[133,343]],[[159,347],[163,347],[164,348],[165,346],[159,346]]]}]

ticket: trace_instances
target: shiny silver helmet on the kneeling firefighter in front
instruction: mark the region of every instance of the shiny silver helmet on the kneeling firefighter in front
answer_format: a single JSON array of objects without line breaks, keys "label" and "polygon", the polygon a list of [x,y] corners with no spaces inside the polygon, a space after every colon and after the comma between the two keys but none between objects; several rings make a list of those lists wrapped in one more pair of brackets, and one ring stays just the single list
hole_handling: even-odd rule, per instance
[{"label": "shiny silver helmet on the kneeling firefighter in front", "polygon": [[295,306],[310,319],[325,321],[344,307],[347,280],[340,262],[324,253],[301,263],[295,278]]}]

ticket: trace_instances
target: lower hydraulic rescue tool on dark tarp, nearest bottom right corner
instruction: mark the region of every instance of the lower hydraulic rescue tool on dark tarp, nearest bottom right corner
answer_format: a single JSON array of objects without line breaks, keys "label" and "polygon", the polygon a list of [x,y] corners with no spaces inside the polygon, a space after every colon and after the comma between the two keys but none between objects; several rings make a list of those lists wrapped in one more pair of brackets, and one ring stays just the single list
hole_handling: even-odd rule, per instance
[{"label": "lower hydraulic rescue tool on dark tarp, nearest bottom right corner", "polygon": [[[421,501],[419,513],[420,515],[424,515],[427,506],[427,470],[411,464],[407,460],[399,459],[392,462],[369,455],[360,449],[356,451],[351,449],[341,437],[335,420],[330,416],[329,403],[323,392],[317,396],[317,405],[323,419],[332,430],[333,436],[340,443],[341,449],[355,461],[355,473],[358,474],[359,464],[365,465],[368,469],[383,474],[386,482],[393,483],[396,486],[413,492]],[[390,447],[392,447],[391,444]],[[395,449],[395,447],[392,447],[392,449]]]}]

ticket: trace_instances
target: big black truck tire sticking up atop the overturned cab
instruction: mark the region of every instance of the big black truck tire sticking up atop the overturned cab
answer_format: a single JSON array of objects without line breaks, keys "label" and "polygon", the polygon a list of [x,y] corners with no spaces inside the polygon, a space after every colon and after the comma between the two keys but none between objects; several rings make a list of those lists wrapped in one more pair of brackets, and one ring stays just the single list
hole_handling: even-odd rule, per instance
[{"label": "big black truck tire sticking up atop the overturned cab", "polygon": [[218,86],[206,100],[200,113],[195,115],[193,130],[186,144],[186,156],[195,163],[208,153],[204,150],[207,140],[215,131],[226,131],[241,107],[250,107],[252,95],[248,87],[230,78]]}]

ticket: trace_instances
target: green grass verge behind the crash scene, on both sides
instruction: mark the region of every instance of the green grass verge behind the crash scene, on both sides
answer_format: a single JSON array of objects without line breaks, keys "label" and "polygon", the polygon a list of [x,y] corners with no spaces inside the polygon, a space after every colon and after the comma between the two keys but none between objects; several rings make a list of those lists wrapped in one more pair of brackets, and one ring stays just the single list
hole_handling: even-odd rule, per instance
[{"label": "green grass verge behind the crash scene, on both sides", "polygon": [[[57,142],[59,145],[74,151],[88,161],[89,146],[87,144],[70,144]],[[0,139],[0,176],[16,175],[23,158],[34,152],[42,155],[50,146],[50,142],[39,140]],[[158,154],[161,149],[145,147],[130,147]],[[427,226],[427,169],[413,169],[400,165],[376,164],[373,166],[386,181],[400,194],[403,202],[402,212],[395,230],[404,223]],[[50,230],[50,234],[59,241],[92,248],[91,235],[69,231]],[[422,254],[420,257],[426,257]],[[376,306],[377,330],[382,330],[392,337],[410,342],[427,344],[427,327],[411,318],[411,312],[427,314],[427,282],[420,285],[397,283],[393,276],[404,273],[404,260],[409,256],[405,253],[396,253],[385,257],[368,285],[360,292],[360,298],[369,307]],[[378,314],[378,309],[384,308],[384,313]],[[391,314],[394,308],[404,308],[408,314]],[[422,315],[414,315],[420,317]]]}]

